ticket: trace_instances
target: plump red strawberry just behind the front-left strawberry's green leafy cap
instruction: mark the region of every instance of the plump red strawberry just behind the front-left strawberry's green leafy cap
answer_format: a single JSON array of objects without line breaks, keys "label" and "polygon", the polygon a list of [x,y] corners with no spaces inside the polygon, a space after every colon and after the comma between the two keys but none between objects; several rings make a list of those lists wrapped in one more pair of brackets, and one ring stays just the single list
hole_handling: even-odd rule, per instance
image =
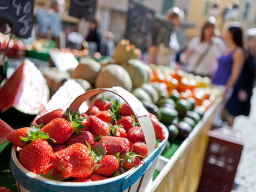
[{"label": "plump red strawberry just behind the front-left strawberry's green leafy cap", "polygon": [[44,126],[41,131],[48,133],[56,144],[64,144],[73,135],[74,129],[70,121],[56,118]]}]

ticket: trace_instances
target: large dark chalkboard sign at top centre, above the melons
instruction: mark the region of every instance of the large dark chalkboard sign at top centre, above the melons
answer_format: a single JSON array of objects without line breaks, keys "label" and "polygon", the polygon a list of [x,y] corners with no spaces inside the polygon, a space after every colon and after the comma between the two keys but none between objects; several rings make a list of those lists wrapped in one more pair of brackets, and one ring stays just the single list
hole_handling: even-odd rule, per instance
[{"label": "large dark chalkboard sign at top centre, above the melons", "polygon": [[134,0],[129,1],[126,38],[142,51],[151,45],[155,12]]}]

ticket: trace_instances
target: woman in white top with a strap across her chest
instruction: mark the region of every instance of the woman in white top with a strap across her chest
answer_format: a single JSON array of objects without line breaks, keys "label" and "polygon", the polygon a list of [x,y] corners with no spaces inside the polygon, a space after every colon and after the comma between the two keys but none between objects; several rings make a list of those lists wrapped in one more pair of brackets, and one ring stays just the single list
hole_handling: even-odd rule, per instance
[{"label": "woman in white top with a strap across her chest", "polygon": [[186,70],[201,76],[211,76],[216,69],[218,57],[224,50],[223,41],[214,37],[215,25],[206,21],[201,29],[201,37],[190,40],[188,48],[181,54],[181,62],[186,63]]}]

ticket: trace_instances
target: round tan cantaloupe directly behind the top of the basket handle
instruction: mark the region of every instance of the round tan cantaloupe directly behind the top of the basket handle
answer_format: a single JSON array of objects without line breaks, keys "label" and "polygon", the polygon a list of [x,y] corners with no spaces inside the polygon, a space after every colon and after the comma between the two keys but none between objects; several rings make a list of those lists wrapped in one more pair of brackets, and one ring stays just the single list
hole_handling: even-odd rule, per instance
[{"label": "round tan cantaloupe directly behind the top of the basket handle", "polygon": [[129,73],[124,67],[119,65],[107,65],[101,69],[101,72],[97,76],[96,83],[97,88],[107,88],[113,86],[120,86],[127,91],[131,91],[132,82]]}]

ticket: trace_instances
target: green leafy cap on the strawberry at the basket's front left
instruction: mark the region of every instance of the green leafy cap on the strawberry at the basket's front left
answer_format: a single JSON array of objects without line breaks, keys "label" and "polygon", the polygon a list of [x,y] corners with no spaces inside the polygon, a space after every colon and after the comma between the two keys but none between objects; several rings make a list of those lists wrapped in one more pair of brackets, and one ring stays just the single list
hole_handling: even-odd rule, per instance
[{"label": "green leafy cap on the strawberry at the basket's front left", "polygon": [[47,133],[44,133],[38,129],[38,127],[34,124],[31,129],[28,129],[28,137],[22,137],[21,136],[21,142],[33,142],[36,141],[37,139],[45,139],[47,141],[52,141],[56,142],[54,139],[50,138]]}]

